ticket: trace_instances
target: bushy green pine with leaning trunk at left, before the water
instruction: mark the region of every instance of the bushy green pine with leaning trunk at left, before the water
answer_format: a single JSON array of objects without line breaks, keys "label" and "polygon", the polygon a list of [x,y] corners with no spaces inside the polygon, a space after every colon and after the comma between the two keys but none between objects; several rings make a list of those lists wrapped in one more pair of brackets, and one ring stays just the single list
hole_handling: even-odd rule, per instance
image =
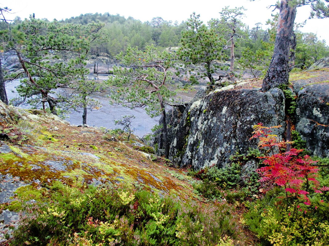
[{"label": "bushy green pine with leaning trunk at left, before the water", "polygon": [[58,100],[51,93],[70,87],[75,79],[86,74],[83,67],[86,54],[102,26],[63,25],[30,18],[8,30],[6,48],[16,54],[24,71],[10,74],[11,79],[20,78],[19,103],[42,103],[45,109],[47,102],[50,111],[56,114]]}]

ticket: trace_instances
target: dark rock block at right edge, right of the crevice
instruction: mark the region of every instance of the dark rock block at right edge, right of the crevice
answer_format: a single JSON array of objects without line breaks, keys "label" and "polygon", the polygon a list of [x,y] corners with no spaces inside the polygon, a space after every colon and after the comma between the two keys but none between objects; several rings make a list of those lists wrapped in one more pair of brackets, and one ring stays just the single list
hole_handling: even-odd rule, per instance
[{"label": "dark rock block at right edge, right of the crevice", "polygon": [[329,157],[329,83],[298,92],[296,130],[313,155]]}]

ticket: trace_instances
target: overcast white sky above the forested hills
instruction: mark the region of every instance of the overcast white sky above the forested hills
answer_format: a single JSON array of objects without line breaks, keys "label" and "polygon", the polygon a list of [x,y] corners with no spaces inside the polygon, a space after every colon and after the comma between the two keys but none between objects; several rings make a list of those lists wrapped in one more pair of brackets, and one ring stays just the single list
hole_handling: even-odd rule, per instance
[{"label": "overcast white sky above the forested hills", "polygon": [[[35,13],[36,18],[47,18],[57,20],[78,16],[85,13],[105,13],[120,14],[124,17],[133,17],[142,22],[160,16],[164,20],[181,22],[187,20],[192,12],[201,15],[204,22],[211,18],[218,18],[219,11],[225,6],[230,8],[243,6],[246,17],[243,22],[254,27],[255,23],[265,24],[271,18],[272,9],[267,9],[276,0],[230,0],[230,1],[210,1],[210,0],[108,0],[108,1],[86,1],[86,0],[0,0],[1,7],[12,9],[13,15],[6,15],[8,19],[19,16],[22,19],[28,18]],[[296,23],[308,19],[309,6],[297,9]],[[329,45],[329,18],[307,20],[306,25],[301,29],[303,32],[314,32],[320,40],[325,39]],[[265,28],[265,25],[263,26]]]}]

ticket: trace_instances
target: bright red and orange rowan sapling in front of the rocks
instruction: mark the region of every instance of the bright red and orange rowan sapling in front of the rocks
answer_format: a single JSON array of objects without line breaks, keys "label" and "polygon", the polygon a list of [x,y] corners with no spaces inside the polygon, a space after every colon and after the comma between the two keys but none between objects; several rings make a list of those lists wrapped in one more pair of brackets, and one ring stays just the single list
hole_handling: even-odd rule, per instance
[{"label": "bright red and orange rowan sapling in front of the rocks", "polygon": [[[292,194],[303,199],[304,204],[310,205],[307,196],[309,188],[312,188],[316,193],[322,193],[322,191],[328,191],[329,187],[318,187],[319,182],[316,177],[319,169],[315,165],[316,161],[313,161],[308,155],[298,156],[303,150],[291,149],[288,152],[274,154],[274,148],[280,150],[285,148],[287,144],[291,144],[291,142],[279,141],[277,135],[271,134],[271,129],[279,127],[281,126],[264,127],[262,123],[253,126],[254,135],[250,139],[258,138],[258,147],[268,149],[272,153],[272,155],[260,157],[265,158],[263,161],[265,167],[256,170],[262,175],[259,181],[282,186],[285,188],[287,200],[288,195]],[[304,184],[305,188],[303,188]]]}]

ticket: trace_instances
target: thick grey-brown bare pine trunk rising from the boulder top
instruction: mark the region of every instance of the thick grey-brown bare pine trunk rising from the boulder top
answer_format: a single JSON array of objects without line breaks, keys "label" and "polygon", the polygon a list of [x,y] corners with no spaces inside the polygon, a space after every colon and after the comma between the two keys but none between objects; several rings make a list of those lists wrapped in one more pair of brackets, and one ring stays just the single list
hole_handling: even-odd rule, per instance
[{"label": "thick grey-brown bare pine trunk rising from the boulder top", "polygon": [[289,51],[295,16],[293,0],[281,0],[274,52],[263,80],[263,92],[289,82]]}]

